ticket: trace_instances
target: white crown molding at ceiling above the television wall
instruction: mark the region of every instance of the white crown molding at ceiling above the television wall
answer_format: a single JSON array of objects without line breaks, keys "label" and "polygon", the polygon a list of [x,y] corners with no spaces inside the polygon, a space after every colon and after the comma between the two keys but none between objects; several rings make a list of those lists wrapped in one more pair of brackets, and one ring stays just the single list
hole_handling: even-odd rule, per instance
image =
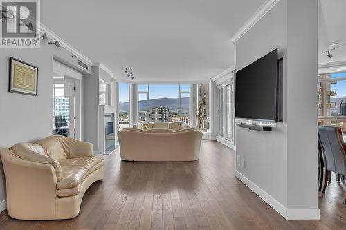
[{"label": "white crown molding at ceiling above the television wall", "polygon": [[248,32],[255,24],[266,15],[271,8],[273,8],[280,0],[266,0],[258,10],[256,10],[255,14],[253,14],[244,25],[231,37],[230,41],[236,43],[243,35]]}]

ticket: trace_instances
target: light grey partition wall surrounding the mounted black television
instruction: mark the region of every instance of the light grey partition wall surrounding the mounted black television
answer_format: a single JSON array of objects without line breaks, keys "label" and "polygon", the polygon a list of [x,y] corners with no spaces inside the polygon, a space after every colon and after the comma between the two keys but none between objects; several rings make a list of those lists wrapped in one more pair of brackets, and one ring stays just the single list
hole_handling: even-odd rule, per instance
[{"label": "light grey partition wall surrounding the mounted black television", "polygon": [[280,1],[236,48],[237,70],[275,48],[284,58],[284,122],[267,133],[236,128],[246,160],[237,175],[285,218],[318,218],[317,1]]}]

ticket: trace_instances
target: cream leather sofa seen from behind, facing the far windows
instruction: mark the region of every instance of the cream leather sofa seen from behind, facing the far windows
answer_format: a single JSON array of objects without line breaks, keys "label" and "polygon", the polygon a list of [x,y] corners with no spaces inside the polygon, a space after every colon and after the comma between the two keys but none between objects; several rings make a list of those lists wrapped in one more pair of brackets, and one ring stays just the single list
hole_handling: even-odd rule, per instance
[{"label": "cream leather sofa seen from behind, facing the far windows", "polygon": [[122,160],[179,162],[199,159],[202,133],[185,122],[138,122],[118,131]]}]

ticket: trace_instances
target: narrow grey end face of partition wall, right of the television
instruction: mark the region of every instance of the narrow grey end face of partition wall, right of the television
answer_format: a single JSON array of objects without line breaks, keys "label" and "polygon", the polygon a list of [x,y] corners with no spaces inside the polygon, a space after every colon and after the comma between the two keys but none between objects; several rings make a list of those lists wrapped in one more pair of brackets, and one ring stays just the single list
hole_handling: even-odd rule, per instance
[{"label": "narrow grey end face of partition wall, right of the television", "polygon": [[316,215],[317,37],[318,1],[287,1],[287,208]]}]

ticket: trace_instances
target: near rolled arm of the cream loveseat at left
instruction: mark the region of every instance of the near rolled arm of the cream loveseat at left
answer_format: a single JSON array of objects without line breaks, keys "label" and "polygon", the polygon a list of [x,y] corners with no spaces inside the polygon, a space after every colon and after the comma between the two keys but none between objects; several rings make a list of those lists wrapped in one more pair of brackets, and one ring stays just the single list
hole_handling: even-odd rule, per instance
[{"label": "near rolled arm of the cream loveseat at left", "polygon": [[23,160],[4,148],[0,149],[0,155],[6,178],[8,215],[21,220],[54,216],[57,198],[54,167]]}]

